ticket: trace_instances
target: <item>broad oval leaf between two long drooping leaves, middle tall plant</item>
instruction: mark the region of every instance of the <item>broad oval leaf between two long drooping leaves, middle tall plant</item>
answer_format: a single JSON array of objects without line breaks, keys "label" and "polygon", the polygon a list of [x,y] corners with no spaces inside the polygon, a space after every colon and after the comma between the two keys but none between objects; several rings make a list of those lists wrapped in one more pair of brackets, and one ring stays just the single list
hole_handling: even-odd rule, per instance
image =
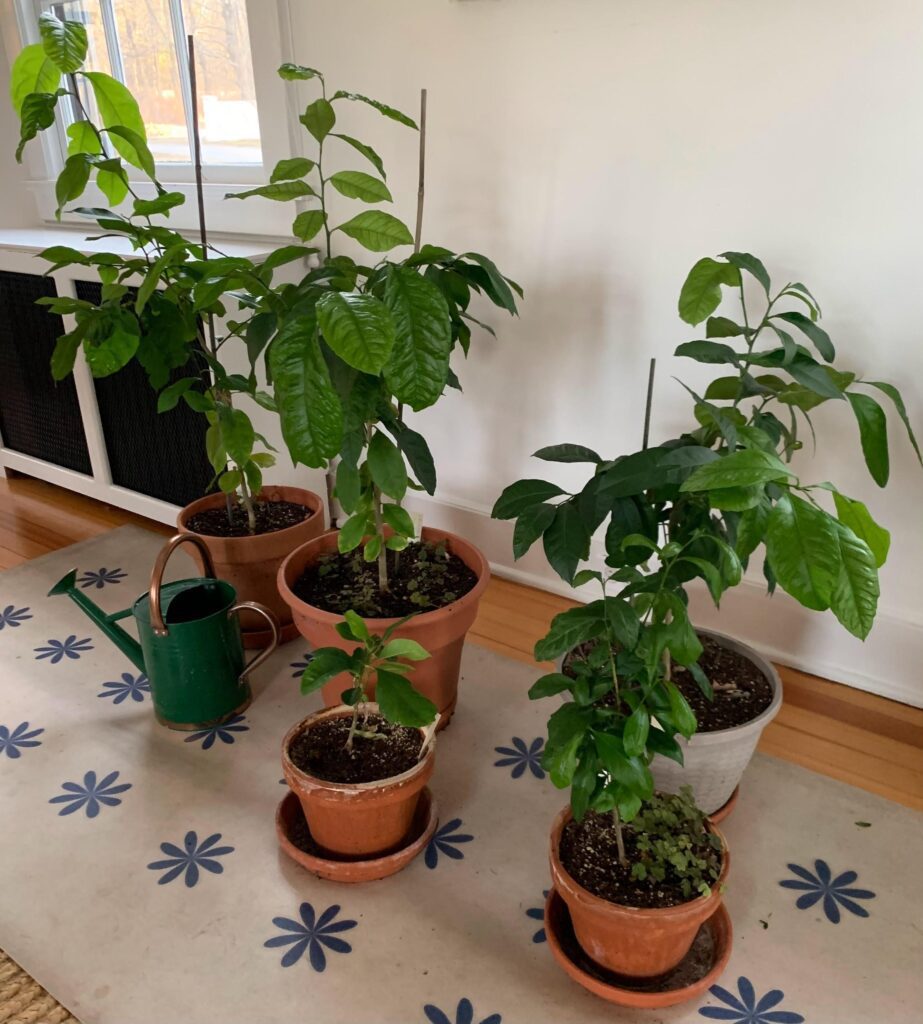
[{"label": "broad oval leaf between two long drooping leaves, middle tall plant", "polygon": [[317,305],[324,340],[344,362],[379,374],[394,346],[394,322],[373,295],[328,292]]}]

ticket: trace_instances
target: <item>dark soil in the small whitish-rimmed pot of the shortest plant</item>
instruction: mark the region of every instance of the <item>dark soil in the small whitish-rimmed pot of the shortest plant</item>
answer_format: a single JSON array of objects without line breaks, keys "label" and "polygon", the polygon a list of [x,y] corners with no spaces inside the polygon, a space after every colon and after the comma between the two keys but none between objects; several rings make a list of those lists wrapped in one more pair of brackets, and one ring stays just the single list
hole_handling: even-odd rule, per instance
[{"label": "dark soil in the small whitish-rimmed pot of the shortest plant", "polygon": [[419,760],[420,730],[391,725],[380,715],[364,720],[360,713],[360,728],[384,738],[354,736],[347,751],[351,721],[349,715],[328,718],[297,735],[289,746],[295,766],[327,782],[377,782],[409,771]]}]

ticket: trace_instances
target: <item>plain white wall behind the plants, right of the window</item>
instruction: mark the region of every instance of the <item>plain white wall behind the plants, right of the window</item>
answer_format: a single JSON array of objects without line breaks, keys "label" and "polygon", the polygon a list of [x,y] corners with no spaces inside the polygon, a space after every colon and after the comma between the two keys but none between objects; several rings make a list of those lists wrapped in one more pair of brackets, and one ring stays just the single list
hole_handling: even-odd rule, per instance
[{"label": "plain white wall behind the plants, right of the window", "polygon": [[[689,266],[752,251],[819,296],[840,361],[898,383],[923,431],[919,285],[923,19],[914,0],[292,0],[296,59],[414,111],[429,90],[425,236],[494,257],[527,291],[491,312],[458,368],[464,395],[419,417],[439,472],[432,521],[509,565],[486,514],[529,454],[637,446],[647,359],[653,437],[689,422],[671,358],[695,337],[676,297]],[[413,138],[370,115],[412,220]],[[354,122],[353,122],[354,126]],[[403,143],[403,144],[398,144]],[[686,360],[683,360],[685,362]],[[893,532],[880,620],[862,645],[832,616],[743,587],[721,622],[783,659],[923,703],[923,471],[892,421],[892,481],[858,457],[848,409],[819,417],[802,476],[834,479]],[[573,473],[548,469],[563,483]],[[519,565],[551,581],[540,552]],[[758,573],[757,573],[758,575]]]}]

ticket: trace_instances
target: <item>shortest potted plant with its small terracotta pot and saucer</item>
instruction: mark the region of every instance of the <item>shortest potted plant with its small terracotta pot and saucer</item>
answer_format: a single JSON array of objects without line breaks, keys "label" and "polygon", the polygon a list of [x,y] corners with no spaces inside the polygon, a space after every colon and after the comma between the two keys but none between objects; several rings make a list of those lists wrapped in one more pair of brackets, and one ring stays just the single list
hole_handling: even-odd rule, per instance
[{"label": "shortest potted plant with its small terracotta pot and saucer", "polygon": [[299,844],[290,805],[286,813],[280,810],[280,840],[305,866],[337,881],[369,881],[400,870],[435,826],[427,792],[424,826],[412,835],[432,774],[438,714],[407,678],[408,663],[429,655],[416,641],[394,635],[401,625],[376,636],[354,611],[345,613],[338,635],[351,650],[317,650],[302,675],[301,692],[312,693],[334,678],[348,679],[349,686],[338,706],[303,719],[282,744],[283,771],[306,835]]}]

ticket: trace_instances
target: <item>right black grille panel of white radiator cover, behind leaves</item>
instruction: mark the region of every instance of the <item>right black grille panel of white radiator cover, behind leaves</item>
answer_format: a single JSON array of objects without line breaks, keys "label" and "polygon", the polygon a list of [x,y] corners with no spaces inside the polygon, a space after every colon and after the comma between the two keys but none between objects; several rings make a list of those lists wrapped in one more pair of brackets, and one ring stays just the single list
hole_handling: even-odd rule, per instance
[{"label": "right black grille panel of white radiator cover, behind leaves", "polygon": [[[100,286],[79,281],[77,295],[98,303]],[[176,370],[171,381],[187,375]],[[148,375],[133,360],[94,383],[113,483],[173,505],[201,498],[213,476],[205,455],[205,417],[184,401],[158,413]]]}]

